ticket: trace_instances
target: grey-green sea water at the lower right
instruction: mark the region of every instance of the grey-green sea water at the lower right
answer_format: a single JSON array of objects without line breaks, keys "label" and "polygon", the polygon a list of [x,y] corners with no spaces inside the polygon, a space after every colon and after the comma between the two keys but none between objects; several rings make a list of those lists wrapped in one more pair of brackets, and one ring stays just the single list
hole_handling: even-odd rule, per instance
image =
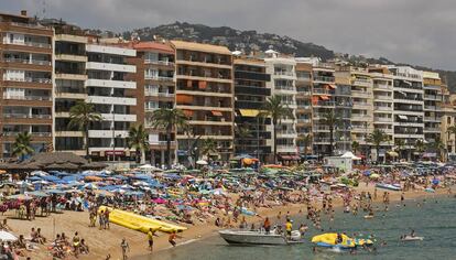
[{"label": "grey-green sea water at the lower right", "polygon": [[[420,205],[419,205],[420,204]],[[293,246],[230,246],[218,235],[163,250],[138,260],[287,260],[287,259],[456,259],[456,197],[432,197],[405,201],[405,206],[390,204],[388,212],[377,212],[373,219],[365,219],[363,213],[357,216],[336,212],[335,220],[323,219],[323,227],[334,231],[373,235],[376,252],[358,250],[357,254],[318,250],[313,252],[312,236],[322,231],[310,228],[307,242]],[[301,223],[312,226],[305,216],[294,217],[294,227]],[[415,230],[423,241],[400,241],[401,235]],[[327,229],[325,230],[327,231]],[[380,246],[381,242],[386,245]]]}]

